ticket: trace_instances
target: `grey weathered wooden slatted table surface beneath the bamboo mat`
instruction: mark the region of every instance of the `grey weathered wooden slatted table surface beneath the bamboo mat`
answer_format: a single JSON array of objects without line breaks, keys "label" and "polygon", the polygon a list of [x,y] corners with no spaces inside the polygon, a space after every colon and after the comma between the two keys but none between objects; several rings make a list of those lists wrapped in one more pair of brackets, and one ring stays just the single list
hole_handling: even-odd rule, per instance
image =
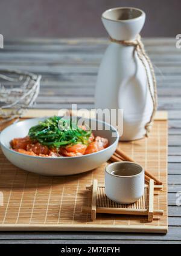
[{"label": "grey weathered wooden slatted table surface beneath the bamboo mat", "polygon": [[[42,74],[36,108],[94,108],[98,67],[107,39],[21,39],[0,50],[0,68]],[[0,243],[180,243],[181,49],[175,39],[144,39],[157,78],[159,110],[169,113],[167,235],[101,232],[0,232]],[[178,200],[179,201],[179,200]],[[181,204],[181,199],[180,199]]]}]

